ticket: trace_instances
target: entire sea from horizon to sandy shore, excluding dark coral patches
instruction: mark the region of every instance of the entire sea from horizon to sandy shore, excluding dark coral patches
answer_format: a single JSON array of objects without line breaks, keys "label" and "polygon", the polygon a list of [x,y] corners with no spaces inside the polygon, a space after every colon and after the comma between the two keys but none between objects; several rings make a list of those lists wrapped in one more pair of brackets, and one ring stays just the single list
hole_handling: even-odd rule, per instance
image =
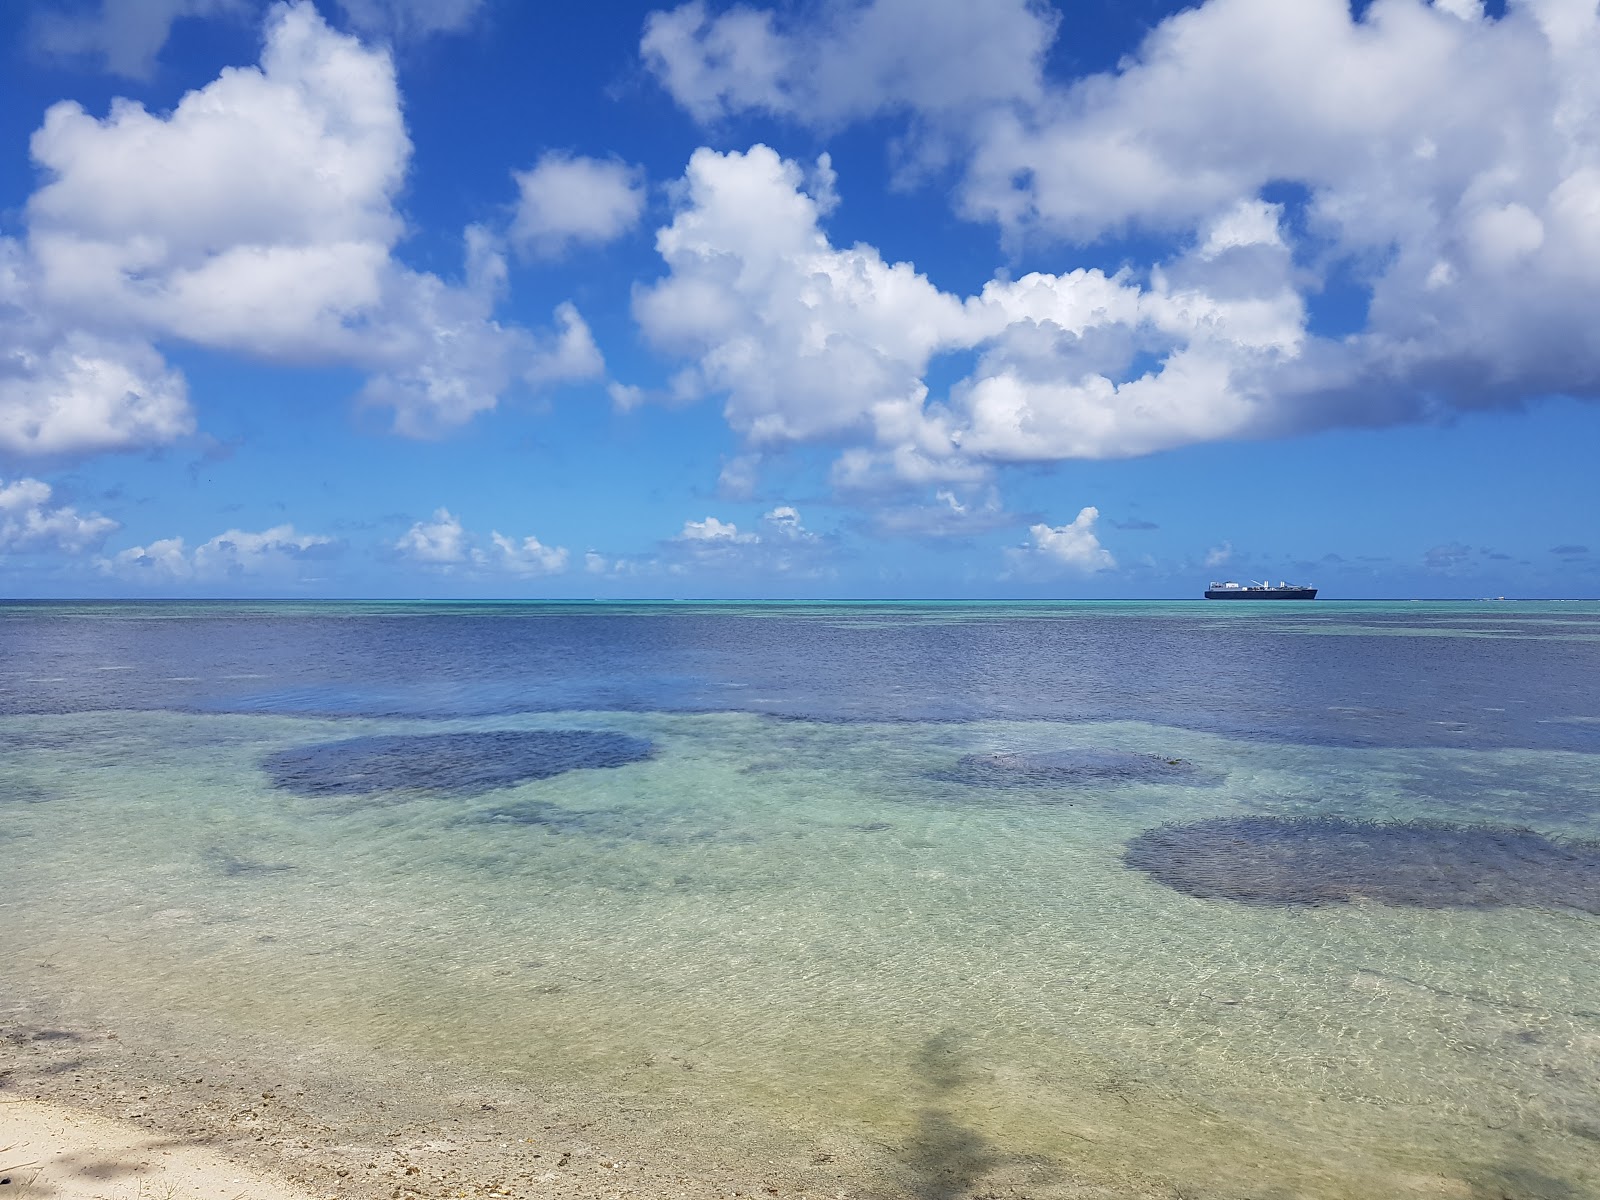
[{"label": "entire sea from horizon to sandy shore, excluding dark coral patches", "polygon": [[[646,1098],[678,1139],[754,1114],[976,1190],[1590,1195],[1600,918],[1195,899],[1122,854],[1219,816],[1600,837],[1597,634],[1533,603],[10,606],[5,987]],[[262,771],[488,730],[656,752],[466,794]],[[963,778],[995,752],[1194,770]]]}]

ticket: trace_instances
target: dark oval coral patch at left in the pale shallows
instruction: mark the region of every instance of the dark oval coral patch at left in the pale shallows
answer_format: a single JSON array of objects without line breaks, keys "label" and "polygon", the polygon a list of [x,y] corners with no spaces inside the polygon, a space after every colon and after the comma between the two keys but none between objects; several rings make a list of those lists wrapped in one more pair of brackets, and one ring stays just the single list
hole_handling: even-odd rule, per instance
[{"label": "dark oval coral patch at left in the pale shallows", "polygon": [[370,795],[414,789],[478,795],[565,771],[650,758],[643,738],[595,730],[493,730],[350,738],[269,754],[274,787],[301,795]]}]

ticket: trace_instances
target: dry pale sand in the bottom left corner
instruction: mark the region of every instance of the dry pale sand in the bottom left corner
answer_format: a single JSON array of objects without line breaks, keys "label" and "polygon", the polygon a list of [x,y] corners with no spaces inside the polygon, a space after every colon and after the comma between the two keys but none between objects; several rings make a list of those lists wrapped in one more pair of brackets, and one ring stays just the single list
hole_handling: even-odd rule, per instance
[{"label": "dry pale sand in the bottom left corner", "polygon": [[0,1101],[0,1200],[310,1200],[195,1142],[46,1101]]}]

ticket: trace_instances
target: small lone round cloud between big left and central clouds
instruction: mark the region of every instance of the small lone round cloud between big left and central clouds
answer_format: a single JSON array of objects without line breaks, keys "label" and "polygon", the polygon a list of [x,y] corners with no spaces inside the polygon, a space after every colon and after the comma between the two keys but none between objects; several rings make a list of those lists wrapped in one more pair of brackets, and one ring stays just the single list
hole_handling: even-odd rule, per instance
[{"label": "small lone round cloud between big left and central clouds", "polygon": [[550,152],[518,189],[510,238],[528,254],[554,258],[571,246],[598,246],[638,224],[645,211],[643,171],[602,158]]}]

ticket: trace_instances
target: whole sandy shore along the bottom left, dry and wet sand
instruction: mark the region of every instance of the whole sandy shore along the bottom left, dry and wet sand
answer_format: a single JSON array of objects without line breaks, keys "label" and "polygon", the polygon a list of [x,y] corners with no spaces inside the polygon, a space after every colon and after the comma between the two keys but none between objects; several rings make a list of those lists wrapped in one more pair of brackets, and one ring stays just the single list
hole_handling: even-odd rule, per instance
[{"label": "whole sandy shore along the bottom left, dry and wet sand", "polygon": [[[443,1067],[285,1054],[248,1037],[219,1058],[214,1030],[190,1045],[176,1027],[152,1038],[43,1016],[18,1005],[0,1018],[0,1200],[998,1200],[1029,1195],[1030,1179],[1051,1195],[1067,1182],[1056,1165],[1002,1166],[938,1141],[936,1112],[904,1146],[821,1146],[758,1117],[662,1120],[643,1094],[485,1088]],[[1171,1190],[1085,1181],[1069,1194]]]}]

